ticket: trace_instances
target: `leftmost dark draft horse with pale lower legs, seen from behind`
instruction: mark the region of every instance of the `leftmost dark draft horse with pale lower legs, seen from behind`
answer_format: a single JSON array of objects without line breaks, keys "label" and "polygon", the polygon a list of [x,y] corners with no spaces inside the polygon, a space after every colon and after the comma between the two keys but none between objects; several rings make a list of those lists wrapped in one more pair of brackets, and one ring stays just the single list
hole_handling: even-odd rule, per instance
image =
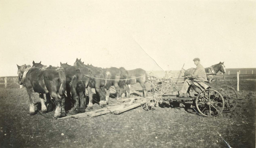
[{"label": "leftmost dark draft horse with pale lower legs, seen from behind", "polygon": [[36,92],[39,93],[42,112],[47,112],[47,107],[44,103],[44,93],[50,93],[50,96],[55,99],[56,108],[54,117],[59,118],[61,116],[66,116],[66,111],[64,110],[66,76],[64,72],[54,69],[42,71],[39,68],[27,65],[17,65],[17,67],[17,74],[19,75],[19,85],[25,85],[29,95],[30,115],[36,114],[36,109],[33,104],[33,93]]}]

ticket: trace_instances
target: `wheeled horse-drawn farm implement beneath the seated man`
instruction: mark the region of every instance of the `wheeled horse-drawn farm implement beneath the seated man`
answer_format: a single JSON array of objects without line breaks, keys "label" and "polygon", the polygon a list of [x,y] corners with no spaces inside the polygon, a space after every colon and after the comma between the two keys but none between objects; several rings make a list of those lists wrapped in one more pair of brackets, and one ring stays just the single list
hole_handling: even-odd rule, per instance
[{"label": "wheeled horse-drawn farm implement beneath the seated man", "polygon": [[[182,70],[184,70],[182,68]],[[182,73],[180,71],[180,74]],[[179,76],[180,76],[179,74]],[[193,74],[190,74],[190,76]],[[213,74],[206,74],[213,75]],[[184,79],[189,78],[189,76],[183,76]],[[195,76],[193,76],[195,77]],[[215,86],[215,83],[224,79],[225,85]],[[200,80],[200,79],[199,79]],[[208,88],[205,90],[199,91],[199,93],[195,93],[195,86],[190,86],[190,96],[189,97],[178,97],[178,82],[179,77],[176,79],[176,82],[171,79],[157,79],[156,77],[151,77],[151,90],[152,96],[156,101],[169,100],[175,103],[182,103],[186,106],[193,105],[196,108],[196,111],[203,116],[206,117],[215,117],[220,115],[222,112],[231,112],[237,106],[238,94],[237,91],[231,86],[227,85],[226,78],[220,77],[212,81],[211,84],[205,83]],[[155,104],[158,106],[158,104]]]}]

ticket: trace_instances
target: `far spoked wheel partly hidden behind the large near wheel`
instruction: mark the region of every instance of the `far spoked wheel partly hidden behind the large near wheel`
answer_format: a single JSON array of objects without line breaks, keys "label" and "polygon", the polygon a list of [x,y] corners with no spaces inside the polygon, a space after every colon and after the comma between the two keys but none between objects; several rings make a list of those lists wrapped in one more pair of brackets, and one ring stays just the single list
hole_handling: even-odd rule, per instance
[{"label": "far spoked wheel partly hidden behind the large near wheel", "polygon": [[225,99],[225,107],[223,109],[223,112],[232,112],[237,106],[237,91],[231,86],[222,86],[218,91]]}]

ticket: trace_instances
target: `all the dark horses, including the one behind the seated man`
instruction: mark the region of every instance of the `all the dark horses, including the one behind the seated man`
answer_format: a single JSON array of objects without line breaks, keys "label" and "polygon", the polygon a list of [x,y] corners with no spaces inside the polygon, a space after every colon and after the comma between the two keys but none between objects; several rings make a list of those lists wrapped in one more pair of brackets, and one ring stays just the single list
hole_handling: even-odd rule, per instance
[{"label": "all the dark horses, including the one behind the seated man", "polygon": [[[147,96],[147,73],[143,69],[126,70],[123,67],[100,68],[92,65],[85,65],[81,59],[76,59],[74,66],[61,63],[60,67],[44,66],[33,61],[30,65],[18,66],[19,84],[27,89],[30,99],[30,115],[36,114],[33,93],[39,93],[41,111],[43,113],[53,110],[54,118],[66,116],[66,112],[85,112],[86,93],[88,90],[88,106],[93,107],[93,92],[99,98],[99,105],[105,106],[109,101],[110,87],[116,89],[116,98],[130,97],[129,85],[140,83],[143,89],[143,96]],[[194,69],[189,71],[193,72]],[[218,71],[225,73],[223,63],[215,64],[205,69],[209,82],[214,79]],[[65,95],[66,93],[66,95]],[[46,94],[46,102],[44,101]],[[52,97],[52,99],[51,99]]]}]

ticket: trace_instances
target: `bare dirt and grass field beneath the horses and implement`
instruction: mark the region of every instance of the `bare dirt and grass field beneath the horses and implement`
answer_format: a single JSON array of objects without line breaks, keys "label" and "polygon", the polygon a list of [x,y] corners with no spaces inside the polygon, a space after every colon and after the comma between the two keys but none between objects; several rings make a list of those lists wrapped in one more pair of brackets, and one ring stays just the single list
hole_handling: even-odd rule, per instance
[{"label": "bare dirt and grass field beneath the horses and implement", "polygon": [[[236,88],[234,77],[226,79]],[[232,148],[255,148],[255,85],[256,75],[241,76],[239,97],[244,99],[234,112],[215,118],[202,117],[182,105],[172,107],[167,101],[157,111],[138,107],[120,115],[65,120],[52,119],[53,112],[43,114],[49,118],[28,115],[26,89],[0,85],[0,147],[228,148],[228,143]],[[132,94],[141,95],[138,90],[140,85],[132,85]],[[34,103],[39,102],[36,96]]]}]

